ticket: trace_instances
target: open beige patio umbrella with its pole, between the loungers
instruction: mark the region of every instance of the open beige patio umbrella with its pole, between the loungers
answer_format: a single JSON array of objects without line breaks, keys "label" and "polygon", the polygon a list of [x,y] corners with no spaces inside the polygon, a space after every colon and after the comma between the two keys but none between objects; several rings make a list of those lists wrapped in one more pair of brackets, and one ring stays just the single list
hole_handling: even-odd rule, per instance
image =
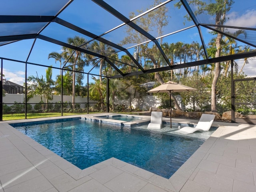
[{"label": "open beige patio umbrella with its pole, between the loungers", "polygon": [[172,128],[172,100],[171,100],[171,93],[175,92],[189,92],[195,91],[192,87],[188,87],[182,84],[178,84],[176,82],[168,81],[152,90],[149,90],[148,93],[169,93],[170,95],[170,125]]}]

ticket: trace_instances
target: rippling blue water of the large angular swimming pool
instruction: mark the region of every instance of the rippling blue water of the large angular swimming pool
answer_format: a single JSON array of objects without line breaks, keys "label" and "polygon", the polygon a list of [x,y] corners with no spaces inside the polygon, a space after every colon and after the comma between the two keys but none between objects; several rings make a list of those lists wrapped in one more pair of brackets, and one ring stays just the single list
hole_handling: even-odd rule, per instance
[{"label": "rippling blue water of the large angular swimming pool", "polygon": [[165,178],[205,141],[81,119],[11,125],[80,169],[114,157]]}]

